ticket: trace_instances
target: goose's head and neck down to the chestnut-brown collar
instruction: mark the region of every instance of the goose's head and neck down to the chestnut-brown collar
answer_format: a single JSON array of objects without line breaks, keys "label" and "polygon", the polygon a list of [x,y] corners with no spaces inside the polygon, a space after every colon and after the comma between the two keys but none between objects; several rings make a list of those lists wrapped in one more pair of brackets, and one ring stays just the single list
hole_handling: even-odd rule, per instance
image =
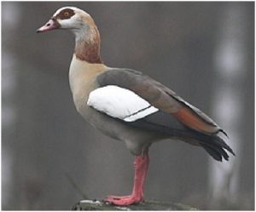
[{"label": "goose's head and neck down to the chestnut-brown collar", "polygon": [[82,9],[63,7],[41,26],[37,32],[48,32],[55,29],[69,30],[75,35],[74,54],[79,60],[90,63],[101,63],[100,33],[94,20]]}]

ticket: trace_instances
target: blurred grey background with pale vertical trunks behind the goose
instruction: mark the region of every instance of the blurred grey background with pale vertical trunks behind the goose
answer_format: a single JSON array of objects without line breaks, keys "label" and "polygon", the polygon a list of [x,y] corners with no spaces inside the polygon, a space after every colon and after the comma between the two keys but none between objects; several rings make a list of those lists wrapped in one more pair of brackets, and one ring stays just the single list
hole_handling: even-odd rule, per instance
[{"label": "blurred grey background with pale vertical trunks behind the goose", "polygon": [[254,209],[253,2],[2,2],[2,209],[71,209],[131,192],[131,153],[73,105],[73,35],[35,33],[66,5],[94,18],[108,66],[154,77],[230,136],[229,163],[183,142],[154,144],[145,198]]}]

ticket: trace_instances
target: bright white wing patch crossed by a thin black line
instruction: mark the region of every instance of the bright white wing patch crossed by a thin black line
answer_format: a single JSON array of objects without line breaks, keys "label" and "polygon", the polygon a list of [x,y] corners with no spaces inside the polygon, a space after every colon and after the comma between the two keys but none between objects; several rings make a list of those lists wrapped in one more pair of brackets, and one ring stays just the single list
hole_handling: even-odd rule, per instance
[{"label": "bright white wing patch crossed by a thin black line", "polygon": [[125,122],[134,122],[159,111],[133,91],[115,85],[108,85],[90,92],[87,105]]}]

